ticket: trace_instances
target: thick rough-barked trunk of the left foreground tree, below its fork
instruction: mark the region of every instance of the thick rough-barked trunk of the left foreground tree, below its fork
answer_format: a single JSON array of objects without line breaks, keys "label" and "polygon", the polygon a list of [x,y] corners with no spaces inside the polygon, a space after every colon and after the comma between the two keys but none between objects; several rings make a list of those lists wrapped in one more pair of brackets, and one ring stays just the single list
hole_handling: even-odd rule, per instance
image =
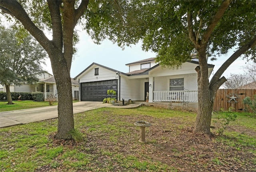
[{"label": "thick rough-barked trunk of the left foreground tree, below its fork", "polygon": [[58,90],[58,131],[55,138],[71,139],[70,131],[74,130],[74,115],[70,71],[64,60],[59,61],[63,59],[62,53],[56,53],[54,56],[50,59]]}]

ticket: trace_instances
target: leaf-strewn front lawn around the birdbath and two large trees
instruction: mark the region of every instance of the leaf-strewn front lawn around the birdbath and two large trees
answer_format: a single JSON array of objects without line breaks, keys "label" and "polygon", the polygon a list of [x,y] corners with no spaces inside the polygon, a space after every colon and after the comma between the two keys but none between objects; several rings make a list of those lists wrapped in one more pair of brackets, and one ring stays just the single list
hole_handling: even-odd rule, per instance
[{"label": "leaf-strewn front lawn around the birdbath and two large trees", "polygon": [[[224,115],[214,114],[213,120]],[[237,115],[211,142],[189,132],[196,114],[152,106],[75,114],[82,142],[52,140],[57,119],[0,128],[0,171],[256,171],[256,118]],[[152,124],[146,128],[146,144],[138,142],[138,120]]]}]

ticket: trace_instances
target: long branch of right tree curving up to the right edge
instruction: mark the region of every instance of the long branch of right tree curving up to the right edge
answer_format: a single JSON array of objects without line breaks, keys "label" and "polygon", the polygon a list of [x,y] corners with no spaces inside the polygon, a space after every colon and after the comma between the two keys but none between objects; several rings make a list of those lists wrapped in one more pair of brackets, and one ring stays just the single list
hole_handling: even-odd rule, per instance
[{"label": "long branch of right tree curving up to the right edge", "polygon": [[226,60],[226,62],[222,64],[222,66],[218,69],[218,71],[212,77],[212,80],[210,81],[210,87],[213,86],[219,80],[220,76],[230,66],[230,64],[232,64],[239,56],[241,56],[247,50],[249,50],[254,46],[256,46],[256,36],[254,36],[254,38],[252,38],[252,40],[250,40],[248,44],[240,47],[236,52],[232,54],[232,56],[230,56],[230,58],[228,58],[228,60]]}]

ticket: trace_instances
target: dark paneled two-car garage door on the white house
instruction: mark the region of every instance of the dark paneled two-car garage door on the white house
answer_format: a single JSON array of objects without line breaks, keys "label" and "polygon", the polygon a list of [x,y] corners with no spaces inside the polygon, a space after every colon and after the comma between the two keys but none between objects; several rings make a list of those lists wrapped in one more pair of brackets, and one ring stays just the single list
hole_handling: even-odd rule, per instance
[{"label": "dark paneled two-car garage door on the white house", "polygon": [[[107,90],[115,90],[117,94],[117,80],[105,80],[81,83],[81,101],[99,101],[111,97]],[[114,98],[114,96],[113,96]],[[115,96],[117,98],[117,95]]]}]

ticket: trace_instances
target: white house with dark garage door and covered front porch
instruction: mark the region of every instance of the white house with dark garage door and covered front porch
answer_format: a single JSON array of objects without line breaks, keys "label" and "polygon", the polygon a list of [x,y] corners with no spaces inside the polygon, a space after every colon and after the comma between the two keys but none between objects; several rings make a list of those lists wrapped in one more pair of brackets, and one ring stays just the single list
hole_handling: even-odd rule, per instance
[{"label": "white house with dark garage door and covered front porch", "polygon": [[[106,66],[92,63],[78,76],[81,101],[102,101],[109,97],[107,90],[117,92],[117,100],[146,100],[148,102],[188,102],[197,103],[197,59],[185,62],[179,68],[163,68],[148,58],[126,64],[128,73],[123,73]],[[209,76],[214,65],[208,64]]]}]

